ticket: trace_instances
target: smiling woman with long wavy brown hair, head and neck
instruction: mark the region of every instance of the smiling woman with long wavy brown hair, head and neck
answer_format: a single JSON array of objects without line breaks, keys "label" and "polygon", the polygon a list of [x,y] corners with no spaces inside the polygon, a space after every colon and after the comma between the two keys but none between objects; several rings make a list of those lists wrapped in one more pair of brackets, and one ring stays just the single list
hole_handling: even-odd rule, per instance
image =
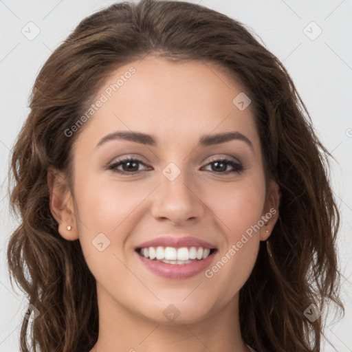
[{"label": "smiling woman with long wavy brown hair, head and neck", "polygon": [[321,312],[342,307],[329,153],[241,23],[111,5],[50,56],[30,108],[8,245],[34,313],[21,351],[29,321],[41,351],[320,351]]}]

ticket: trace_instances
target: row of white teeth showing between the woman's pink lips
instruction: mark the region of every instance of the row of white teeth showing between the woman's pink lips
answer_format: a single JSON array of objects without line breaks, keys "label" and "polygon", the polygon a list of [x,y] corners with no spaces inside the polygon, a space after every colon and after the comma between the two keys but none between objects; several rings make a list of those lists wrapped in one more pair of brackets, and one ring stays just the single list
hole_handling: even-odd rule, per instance
[{"label": "row of white teeth showing between the woman's pink lips", "polygon": [[140,254],[148,259],[156,259],[169,264],[187,264],[192,263],[190,259],[206,259],[210,254],[209,248],[195,247],[148,247],[142,248]]}]

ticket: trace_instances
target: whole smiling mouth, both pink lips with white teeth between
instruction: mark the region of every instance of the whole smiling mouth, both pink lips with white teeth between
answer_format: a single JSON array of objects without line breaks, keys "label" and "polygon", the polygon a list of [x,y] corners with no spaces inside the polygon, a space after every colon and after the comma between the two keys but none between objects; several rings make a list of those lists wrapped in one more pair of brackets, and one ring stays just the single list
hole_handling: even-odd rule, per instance
[{"label": "whole smiling mouth, both pink lips with white teeth between", "polygon": [[158,276],[187,278],[205,270],[217,249],[191,236],[164,236],[142,243],[135,251],[142,263]]}]

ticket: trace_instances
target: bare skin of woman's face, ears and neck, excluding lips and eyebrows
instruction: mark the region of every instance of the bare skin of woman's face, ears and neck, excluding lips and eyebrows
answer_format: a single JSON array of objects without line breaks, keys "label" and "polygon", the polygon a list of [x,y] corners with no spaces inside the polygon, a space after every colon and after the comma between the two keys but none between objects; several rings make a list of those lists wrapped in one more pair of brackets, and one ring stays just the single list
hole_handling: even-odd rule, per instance
[{"label": "bare skin of woman's face, ears and neck, excluding lips and eyebrows", "polygon": [[[239,326],[239,290],[278,212],[212,278],[156,276],[134,250],[162,234],[186,233],[218,249],[211,267],[270,208],[278,209],[273,181],[268,195],[274,197],[265,198],[254,115],[232,103],[243,87],[212,64],[147,56],[115,70],[96,97],[131,66],[135,74],[79,131],[72,188],[57,170],[48,178],[58,230],[68,241],[79,239],[96,278],[100,331],[91,352],[249,351]],[[111,140],[96,148],[105,135],[130,130],[155,135],[158,145]],[[228,131],[248,137],[253,148],[241,140],[197,147],[202,135]],[[107,168],[124,156],[141,160],[139,174]],[[221,157],[241,162],[243,172],[229,173],[230,164],[217,170],[214,160]],[[173,181],[162,173],[170,162],[181,171]],[[110,240],[102,252],[91,243],[101,232]],[[173,321],[163,314],[170,304],[179,311]]]}]

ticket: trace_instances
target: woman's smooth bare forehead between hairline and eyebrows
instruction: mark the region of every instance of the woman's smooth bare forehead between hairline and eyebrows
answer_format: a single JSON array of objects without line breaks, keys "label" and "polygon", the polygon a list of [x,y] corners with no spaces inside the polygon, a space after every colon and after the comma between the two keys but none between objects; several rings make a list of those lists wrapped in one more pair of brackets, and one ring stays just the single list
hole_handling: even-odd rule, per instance
[{"label": "woman's smooth bare forehead between hairline and eyebrows", "polygon": [[94,135],[132,130],[157,135],[164,144],[236,130],[255,140],[251,106],[241,110],[235,104],[243,90],[219,65],[146,56],[111,72],[93,100],[102,103],[83,135],[95,140]]}]

